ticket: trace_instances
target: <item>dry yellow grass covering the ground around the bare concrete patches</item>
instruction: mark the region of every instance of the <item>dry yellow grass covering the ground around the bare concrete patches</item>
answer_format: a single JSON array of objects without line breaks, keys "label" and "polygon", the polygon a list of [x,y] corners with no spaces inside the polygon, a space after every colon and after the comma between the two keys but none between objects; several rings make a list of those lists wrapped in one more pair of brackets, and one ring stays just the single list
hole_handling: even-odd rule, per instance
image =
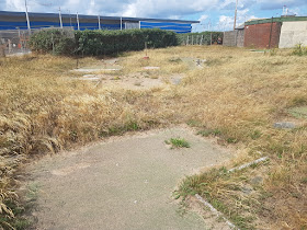
[{"label": "dry yellow grass covering the ground around the bare concrete patches", "polygon": [[[259,152],[270,156],[262,189],[272,195],[260,200],[269,214],[254,214],[263,225],[306,227],[307,125],[304,118],[291,117],[287,108],[307,105],[307,57],[291,56],[288,50],[270,55],[200,46],[149,50],[149,56],[141,60],[144,53],[130,53],[122,58],[122,73],[159,66],[155,76],[183,72],[183,83],[141,92],[105,90],[67,78],[76,66],[70,58],[2,59],[0,156],[44,154],[127,130],[195,124],[200,129],[218,129],[221,143],[236,142],[243,152],[236,163],[254,159]],[[191,69],[173,61],[180,57],[207,61],[203,69]],[[274,122],[288,119],[300,128],[273,128]],[[12,174],[0,166],[7,175],[0,189],[7,194]],[[238,183],[240,175],[232,176],[231,183]],[[231,196],[231,189],[225,188],[228,182],[220,179],[213,184],[224,199]]]}]

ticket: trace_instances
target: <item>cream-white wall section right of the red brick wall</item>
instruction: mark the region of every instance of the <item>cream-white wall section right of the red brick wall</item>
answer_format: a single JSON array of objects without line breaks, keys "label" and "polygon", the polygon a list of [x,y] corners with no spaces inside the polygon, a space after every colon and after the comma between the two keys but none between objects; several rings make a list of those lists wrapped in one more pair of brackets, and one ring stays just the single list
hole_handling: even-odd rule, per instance
[{"label": "cream-white wall section right of the red brick wall", "polygon": [[297,44],[307,46],[307,21],[283,22],[280,48],[293,48]]}]

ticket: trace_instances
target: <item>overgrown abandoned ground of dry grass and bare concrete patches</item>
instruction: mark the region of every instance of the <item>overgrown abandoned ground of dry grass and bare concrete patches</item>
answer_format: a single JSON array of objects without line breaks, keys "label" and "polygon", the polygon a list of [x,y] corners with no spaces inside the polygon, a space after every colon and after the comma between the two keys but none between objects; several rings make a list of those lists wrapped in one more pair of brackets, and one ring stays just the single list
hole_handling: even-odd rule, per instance
[{"label": "overgrown abandoned ground of dry grass and bare concrete patches", "polygon": [[296,54],[2,58],[1,228],[306,228],[307,56]]}]

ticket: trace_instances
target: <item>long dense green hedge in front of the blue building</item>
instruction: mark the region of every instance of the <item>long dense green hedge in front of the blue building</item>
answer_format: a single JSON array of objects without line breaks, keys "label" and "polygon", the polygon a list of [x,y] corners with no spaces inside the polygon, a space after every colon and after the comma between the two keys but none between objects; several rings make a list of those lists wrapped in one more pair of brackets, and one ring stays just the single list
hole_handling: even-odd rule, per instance
[{"label": "long dense green hedge in front of the blue building", "polygon": [[75,36],[61,30],[43,30],[31,36],[32,50],[58,55],[111,55],[129,50],[177,46],[174,32],[159,28],[127,31],[77,31]]}]

